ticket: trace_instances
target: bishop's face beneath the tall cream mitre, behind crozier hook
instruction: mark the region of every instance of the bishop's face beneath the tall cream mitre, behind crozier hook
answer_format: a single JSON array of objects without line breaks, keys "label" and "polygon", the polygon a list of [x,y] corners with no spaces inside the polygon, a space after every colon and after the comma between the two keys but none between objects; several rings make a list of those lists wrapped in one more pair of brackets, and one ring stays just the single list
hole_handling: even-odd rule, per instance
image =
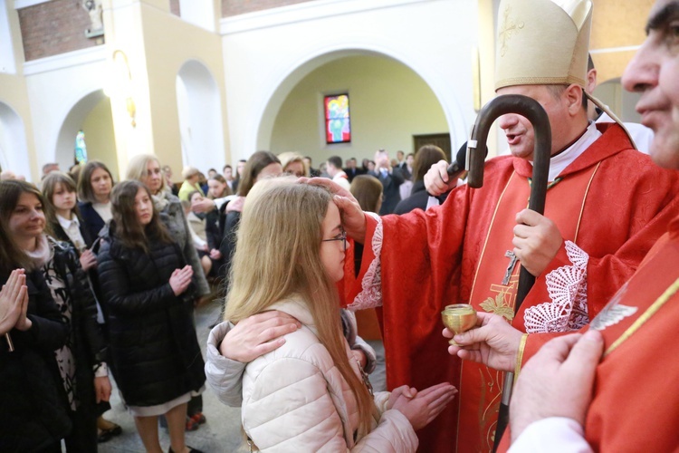
[{"label": "bishop's face beneath the tall cream mitre, behind crozier hook", "polygon": [[[571,141],[568,136],[569,130],[566,127],[571,120],[569,119],[567,100],[564,96],[555,97],[544,85],[504,87],[499,89],[497,94],[498,96],[502,94],[522,94],[540,102],[550,119],[551,154],[563,149]],[[498,124],[504,130],[512,156],[532,160],[535,131],[531,121],[519,114],[508,113],[498,119]]]}]

